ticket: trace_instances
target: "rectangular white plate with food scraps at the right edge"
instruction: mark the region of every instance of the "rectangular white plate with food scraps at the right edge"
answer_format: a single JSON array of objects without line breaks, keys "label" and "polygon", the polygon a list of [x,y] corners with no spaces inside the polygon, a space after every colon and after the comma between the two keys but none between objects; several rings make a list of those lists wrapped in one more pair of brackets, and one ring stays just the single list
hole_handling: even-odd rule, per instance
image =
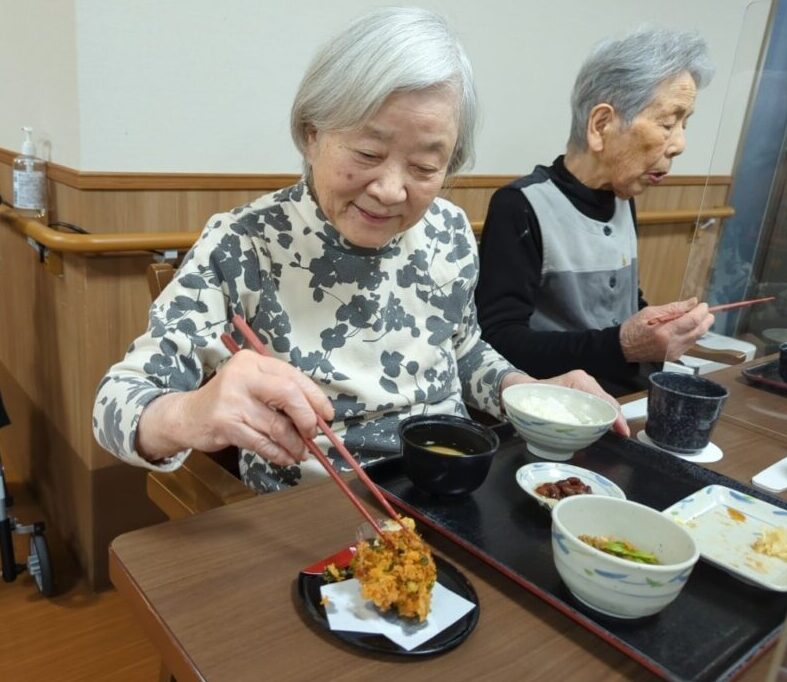
[{"label": "rectangular white plate with food scraps at the right edge", "polygon": [[757,587],[787,592],[787,509],[709,485],[663,513],[689,532],[709,563]]}]

